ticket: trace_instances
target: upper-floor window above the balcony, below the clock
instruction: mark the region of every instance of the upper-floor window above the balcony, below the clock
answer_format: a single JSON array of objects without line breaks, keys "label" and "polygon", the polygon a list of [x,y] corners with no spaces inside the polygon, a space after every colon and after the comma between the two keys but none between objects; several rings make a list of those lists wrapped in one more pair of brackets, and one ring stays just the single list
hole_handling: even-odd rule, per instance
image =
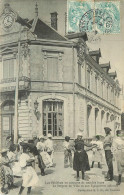
[{"label": "upper-floor window above the balcony, below the clock", "polygon": [[3,79],[14,77],[14,59],[3,59]]}]

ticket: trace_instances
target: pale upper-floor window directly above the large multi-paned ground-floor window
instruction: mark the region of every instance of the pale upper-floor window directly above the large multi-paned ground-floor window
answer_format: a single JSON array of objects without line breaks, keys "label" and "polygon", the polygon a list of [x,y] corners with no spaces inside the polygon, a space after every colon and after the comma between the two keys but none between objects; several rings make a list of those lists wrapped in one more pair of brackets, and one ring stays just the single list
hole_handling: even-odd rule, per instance
[{"label": "pale upper-floor window directly above the large multi-paned ground-floor window", "polygon": [[48,81],[58,80],[58,58],[57,57],[47,58],[47,79]]}]

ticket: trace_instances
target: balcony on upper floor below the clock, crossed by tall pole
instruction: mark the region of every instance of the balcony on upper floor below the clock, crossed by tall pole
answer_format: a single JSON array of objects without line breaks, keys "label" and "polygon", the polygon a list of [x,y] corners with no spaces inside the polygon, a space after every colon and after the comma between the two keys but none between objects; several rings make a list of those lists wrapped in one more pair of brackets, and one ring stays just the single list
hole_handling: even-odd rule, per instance
[{"label": "balcony on upper floor below the clock, crossed by tall pole", "polygon": [[[12,92],[15,91],[16,78],[7,78],[0,81],[1,92]],[[28,77],[19,77],[19,90],[26,91],[30,89],[30,79]]]}]

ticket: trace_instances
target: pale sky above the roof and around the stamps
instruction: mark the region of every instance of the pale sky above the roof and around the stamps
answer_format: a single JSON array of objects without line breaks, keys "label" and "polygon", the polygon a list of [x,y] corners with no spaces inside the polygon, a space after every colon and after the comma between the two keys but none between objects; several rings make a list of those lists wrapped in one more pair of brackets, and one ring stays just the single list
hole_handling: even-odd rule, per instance
[{"label": "pale sky above the roof and around the stamps", "polygon": [[[18,12],[22,18],[32,19],[35,16],[36,2],[38,3],[39,17],[47,24],[50,25],[50,13],[55,11],[58,13],[58,31],[64,35],[67,0],[0,0],[0,13],[4,3],[9,3],[11,8]],[[92,50],[101,49],[102,57],[100,63],[110,61],[110,71],[117,72],[117,78],[122,86],[122,84],[124,85],[124,0],[120,0],[120,16],[121,32],[119,34],[101,35],[100,42],[88,43],[88,45]]]}]

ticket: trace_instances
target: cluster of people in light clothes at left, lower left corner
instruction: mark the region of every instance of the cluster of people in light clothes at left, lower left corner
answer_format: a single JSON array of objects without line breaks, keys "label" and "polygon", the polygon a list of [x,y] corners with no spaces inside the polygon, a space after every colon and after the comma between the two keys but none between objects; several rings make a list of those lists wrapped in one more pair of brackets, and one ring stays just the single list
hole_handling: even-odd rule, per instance
[{"label": "cluster of people in light clothes at left, lower left corner", "polygon": [[[10,140],[9,138],[9,142]],[[40,135],[38,138],[34,137],[33,140],[28,140],[28,142],[19,137],[17,145],[11,142],[9,149],[1,151],[1,192],[8,194],[9,190],[16,187],[14,177],[21,177],[22,186],[19,194],[22,194],[25,187],[28,188],[27,194],[30,194],[32,186],[36,186],[39,180],[35,171],[36,159],[38,159],[41,175],[44,176],[44,169],[53,166],[53,152],[51,134],[48,134],[46,141],[44,136]]]}]

